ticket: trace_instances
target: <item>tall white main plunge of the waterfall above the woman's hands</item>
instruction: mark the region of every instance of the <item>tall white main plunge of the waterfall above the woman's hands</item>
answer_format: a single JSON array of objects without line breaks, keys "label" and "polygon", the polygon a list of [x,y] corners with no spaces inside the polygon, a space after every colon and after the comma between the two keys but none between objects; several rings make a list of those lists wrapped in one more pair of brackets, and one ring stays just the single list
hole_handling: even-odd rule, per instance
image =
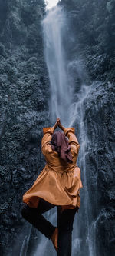
[{"label": "tall white main plunge of the waterfall above the woman's hands", "polygon": [[44,31],[44,55],[50,78],[51,98],[49,111],[51,121],[61,118],[64,125],[69,125],[69,113],[72,103],[72,91],[69,75],[67,74],[67,60],[64,51],[64,37],[66,36],[66,15],[61,7],[52,8],[42,22]]}]

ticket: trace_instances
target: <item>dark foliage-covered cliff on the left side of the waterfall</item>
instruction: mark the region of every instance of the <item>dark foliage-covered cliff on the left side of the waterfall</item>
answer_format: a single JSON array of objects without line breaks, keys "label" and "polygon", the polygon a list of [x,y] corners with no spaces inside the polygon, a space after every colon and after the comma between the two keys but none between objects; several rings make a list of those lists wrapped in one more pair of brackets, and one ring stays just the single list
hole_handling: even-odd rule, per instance
[{"label": "dark foliage-covered cliff on the left side of the waterfall", "polygon": [[[41,32],[44,1],[1,0],[0,5],[0,240],[2,255],[15,255],[14,241],[25,224],[22,194],[44,165],[41,138],[48,121],[49,81]],[[17,248],[22,241],[23,236]]]}]

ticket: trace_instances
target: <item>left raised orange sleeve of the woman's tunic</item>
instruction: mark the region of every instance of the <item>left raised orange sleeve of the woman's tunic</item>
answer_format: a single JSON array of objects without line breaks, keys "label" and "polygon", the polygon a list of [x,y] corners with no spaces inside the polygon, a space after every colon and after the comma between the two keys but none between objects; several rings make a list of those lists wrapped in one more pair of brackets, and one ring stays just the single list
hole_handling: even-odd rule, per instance
[{"label": "left raised orange sleeve of the woman's tunic", "polygon": [[44,132],[44,136],[41,141],[41,151],[43,155],[46,155],[52,152],[51,138],[54,132],[54,128],[53,127],[43,128],[43,132]]}]

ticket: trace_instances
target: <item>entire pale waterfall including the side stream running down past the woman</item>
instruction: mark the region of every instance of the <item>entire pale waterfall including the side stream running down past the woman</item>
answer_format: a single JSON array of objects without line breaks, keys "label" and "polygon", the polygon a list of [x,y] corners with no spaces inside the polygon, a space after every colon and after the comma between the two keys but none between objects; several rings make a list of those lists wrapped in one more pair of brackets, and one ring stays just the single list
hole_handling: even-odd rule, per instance
[{"label": "entire pale waterfall including the side stream running down past the woman", "polygon": [[[74,92],[74,83],[71,83],[69,67],[73,63],[67,61],[65,38],[67,38],[67,18],[59,6],[52,8],[42,22],[44,32],[44,56],[48,66],[51,97],[49,111],[51,121],[57,117],[66,126],[76,126],[79,131],[80,153],[77,165],[81,167],[81,178],[84,188],[81,190],[81,209],[76,214],[73,232],[73,256],[96,256],[96,228],[97,221],[91,214],[89,191],[87,186],[87,127],[84,125],[84,101],[88,98],[92,87],[84,84],[82,79],[83,67],[77,58],[76,74],[81,78],[81,88]],[[77,99],[76,101],[74,99]],[[55,216],[56,217],[56,216]],[[51,218],[51,215],[50,215]],[[50,256],[54,253],[49,254]],[[44,255],[43,255],[44,256]],[[99,255],[98,255],[99,256]]]}]

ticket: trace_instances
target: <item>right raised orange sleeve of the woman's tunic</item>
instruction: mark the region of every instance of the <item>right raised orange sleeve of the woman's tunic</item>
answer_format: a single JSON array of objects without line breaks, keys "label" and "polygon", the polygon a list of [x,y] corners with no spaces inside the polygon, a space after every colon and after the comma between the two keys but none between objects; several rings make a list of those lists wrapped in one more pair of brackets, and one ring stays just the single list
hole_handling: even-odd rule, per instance
[{"label": "right raised orange sleeve of the woman's tunic", "polygon": [[64,128],[64,135],[67,136],[67,138],[69,139],[69,144],[71,145],[72,150],[74,151],[75,155],[78,155],[79,152],[79,142],[77,141],[77,137],[74,134],[75,133],[75,129],[72,128]]}]

